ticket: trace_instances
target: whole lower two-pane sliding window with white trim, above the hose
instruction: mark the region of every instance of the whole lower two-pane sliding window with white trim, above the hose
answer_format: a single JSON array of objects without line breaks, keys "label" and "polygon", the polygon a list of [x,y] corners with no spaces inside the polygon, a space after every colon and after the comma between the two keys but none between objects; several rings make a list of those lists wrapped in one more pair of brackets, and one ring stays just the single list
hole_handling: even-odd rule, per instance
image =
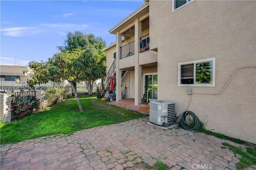
[{"label": "whole lower two-pane sliding window with white trim, above the hose", "polygon": [[215,58],[178,63],[178,86],[215,86]]}]

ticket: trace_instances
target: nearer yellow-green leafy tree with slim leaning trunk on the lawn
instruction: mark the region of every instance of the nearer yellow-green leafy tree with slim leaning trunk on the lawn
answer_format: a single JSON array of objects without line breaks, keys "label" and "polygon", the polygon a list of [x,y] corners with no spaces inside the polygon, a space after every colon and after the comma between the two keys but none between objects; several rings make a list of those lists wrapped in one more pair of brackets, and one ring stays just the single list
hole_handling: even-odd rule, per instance
[{"label": "nearer yellow-green leafy tree with slim leaning trunk on the lawn", "polygon": [[[67,80],[75,94],[76,101],[80,111],[83,111],[81,102],[76,92],[75,83],[86,78],[86,74],[91,72],[88,67],[88,53],[90,50],[75,49],[73,51],[64,51],[54,54],[54,57],[49,58],[47,62],[31,61],[28,66],[33,70],[28,80],[28,85],[34,87],[36,84],[47,83],[48,81],[60,82],[60,80]],[[89,55],[90,56],[90,55]],[[24,71],[25,72],[25,71]]]}]

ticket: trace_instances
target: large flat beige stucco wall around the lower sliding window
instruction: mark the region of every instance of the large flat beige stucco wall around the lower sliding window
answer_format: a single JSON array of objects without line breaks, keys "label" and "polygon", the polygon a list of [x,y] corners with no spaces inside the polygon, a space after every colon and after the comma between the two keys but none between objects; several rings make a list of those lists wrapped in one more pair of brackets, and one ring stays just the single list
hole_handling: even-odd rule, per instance
[{"label": "large flat beige stucco wall around the lower sliding window", "polygon": [[[175,102],[180,115],[188,106],[187,88],[218,93],[236,69],[255,66],[255,25],[256,1],[195,0],[174,12],[172,1],[150,1],[150,48],[158,48],[158,99]],[[215,87],[178,86],[178,63],[213,57]],[[255,144],[255,75],[255,68],[242,68],[222,94],[192,94],[188,110],[207,122],[207,129]]]}]

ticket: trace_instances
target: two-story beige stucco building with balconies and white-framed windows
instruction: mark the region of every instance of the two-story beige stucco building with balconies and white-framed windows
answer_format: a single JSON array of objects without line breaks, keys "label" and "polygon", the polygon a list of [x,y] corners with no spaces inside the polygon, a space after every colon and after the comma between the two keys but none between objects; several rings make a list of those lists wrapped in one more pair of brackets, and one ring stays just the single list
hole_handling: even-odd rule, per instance
[{"label": "two-story beige stucco building with balconies and white-framed windows", "polygon": [[175,102],[178,115],[193,111],[207,129],[256,144],[255,25],[256,1],[147,1],[110,29],[116,43],[103,50],[108,69],[116,57],[115,104],[122,84],[138,107],[157,87],[150,100]]}]

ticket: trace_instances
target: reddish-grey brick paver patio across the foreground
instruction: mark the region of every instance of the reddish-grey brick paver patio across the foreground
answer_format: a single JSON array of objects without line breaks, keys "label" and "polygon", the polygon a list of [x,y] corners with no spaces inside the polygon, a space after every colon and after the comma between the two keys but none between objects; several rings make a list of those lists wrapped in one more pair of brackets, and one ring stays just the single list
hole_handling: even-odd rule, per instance
[{"label": "reddish-grey brick paver patio across the foreground", "polygon": [[183,129],[163,130],[147,122],[148,118],[142,118],[70,136],[2,145],[0,168],[122,170],[141,161],[153,166],[158,159],[172,169],[193,169],[201,164],[205,169],[233,170],[239,161],[232,151],[221,148],[223,142],[235,143]]}]

